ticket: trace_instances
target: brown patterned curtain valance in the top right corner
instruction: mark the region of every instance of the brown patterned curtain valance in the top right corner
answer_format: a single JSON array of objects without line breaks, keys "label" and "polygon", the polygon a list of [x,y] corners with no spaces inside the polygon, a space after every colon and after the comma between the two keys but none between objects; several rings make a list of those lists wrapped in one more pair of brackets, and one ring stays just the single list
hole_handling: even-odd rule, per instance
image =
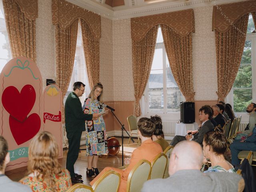
[{"label": "brown patterned curtain valance in the top right corner", "polygon": [[256,12],[256,1],[216,5],[212,12],[212,30],[227,32],[245,14]]}]

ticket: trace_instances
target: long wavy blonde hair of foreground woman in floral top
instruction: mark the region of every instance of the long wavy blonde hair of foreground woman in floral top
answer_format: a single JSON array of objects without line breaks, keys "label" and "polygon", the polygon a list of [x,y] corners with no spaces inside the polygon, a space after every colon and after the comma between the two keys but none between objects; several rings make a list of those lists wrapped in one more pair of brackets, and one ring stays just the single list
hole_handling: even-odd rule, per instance
[{"label": "long wavy blonde hair of foreground woman in floral top", "polygon": [[35,171],[38,173],[37,179],[42,178],[52,191],[56,191],[53,175],[61,173],[61,166],[58,163],[58,144],[50,132],[40,132],[30,142],[28,172]]}]

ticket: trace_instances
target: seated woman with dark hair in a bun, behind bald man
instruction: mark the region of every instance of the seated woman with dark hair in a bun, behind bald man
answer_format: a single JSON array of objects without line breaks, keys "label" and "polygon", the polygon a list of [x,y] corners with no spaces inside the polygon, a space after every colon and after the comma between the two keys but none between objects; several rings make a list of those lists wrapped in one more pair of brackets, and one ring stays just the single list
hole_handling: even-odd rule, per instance
[{"label": "seated woman with dark hair in a bun, behind bald man", "polygon": [[234,167],[224,158],[228,144],[223,133],[222,128],[215,127],[214,131],[204,134],[204,156],[210,159],[212,165],[205,172],[236,172]]}]

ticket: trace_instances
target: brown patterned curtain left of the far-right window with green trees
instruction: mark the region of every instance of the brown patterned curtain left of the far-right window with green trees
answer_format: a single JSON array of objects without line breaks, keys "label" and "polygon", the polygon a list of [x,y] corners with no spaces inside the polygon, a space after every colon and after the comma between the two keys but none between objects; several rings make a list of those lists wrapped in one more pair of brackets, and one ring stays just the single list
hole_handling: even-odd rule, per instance
[{"label": "brown patterned curtain left of the far-right window with green trees", "polygon": [[228,31],[215,30],[217,77],[219,101],[224,101],[230,92],[240,66],[249,14],[245,14],[230,26]]}]

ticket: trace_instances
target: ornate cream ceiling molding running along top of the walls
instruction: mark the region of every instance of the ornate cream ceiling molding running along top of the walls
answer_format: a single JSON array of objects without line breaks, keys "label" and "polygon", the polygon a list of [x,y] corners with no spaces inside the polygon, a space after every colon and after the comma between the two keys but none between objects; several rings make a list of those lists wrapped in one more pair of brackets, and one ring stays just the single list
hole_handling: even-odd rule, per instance
[{"label": "ornate cream ceiling molding running along top of the walls", "polygon": [[[203,6],[214,6],[215,4],[226,4],[240,2],[244,0],[174,0],[162,3],[146,4],[145,6],[120,6],[112,8],[94,0],[67,0],[77,6],[86,8],[92,12],[98,13],[103,17],[117,20],[129,19],[133,17],[147,16],[152,14],[161,14],[178,10],[186,10]],[[132,0],[135,3],[135,0]]]}]

